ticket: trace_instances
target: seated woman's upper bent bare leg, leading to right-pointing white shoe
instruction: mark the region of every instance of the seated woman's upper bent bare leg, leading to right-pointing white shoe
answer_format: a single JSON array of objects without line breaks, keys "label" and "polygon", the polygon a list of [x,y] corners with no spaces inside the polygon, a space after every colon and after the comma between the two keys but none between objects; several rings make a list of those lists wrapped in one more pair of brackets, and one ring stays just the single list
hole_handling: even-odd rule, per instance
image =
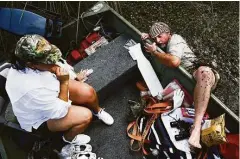
[{"label": "seated woman's upper bent bare leg, leading to right-pointing white shoe", "polygon": [[69,99],[76,105],[84,105],[95,113],[101,110],[96,91],[88,84],[69,81]]}]

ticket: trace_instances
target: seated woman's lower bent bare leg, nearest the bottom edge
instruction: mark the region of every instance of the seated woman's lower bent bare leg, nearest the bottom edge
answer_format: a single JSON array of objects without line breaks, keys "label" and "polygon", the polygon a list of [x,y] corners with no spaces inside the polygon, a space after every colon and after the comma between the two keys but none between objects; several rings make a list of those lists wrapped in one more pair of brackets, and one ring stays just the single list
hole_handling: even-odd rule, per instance
[{"label": "seated woman's lower bent bare leg, nearest the bottom edge", "polygon": [[65,117],[47,121],[50,131],[64,131],[64,137],[72,141],[74,137],[82,133],[92,120],[92,112],[81,106],[71,106]]}]

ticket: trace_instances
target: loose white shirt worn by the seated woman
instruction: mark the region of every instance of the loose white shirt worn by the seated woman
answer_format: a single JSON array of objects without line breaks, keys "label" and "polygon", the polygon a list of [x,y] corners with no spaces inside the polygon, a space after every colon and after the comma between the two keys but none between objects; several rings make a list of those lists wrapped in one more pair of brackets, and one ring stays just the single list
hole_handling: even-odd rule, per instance
[{"label": "loose white shirt worn by the seated woman", "polygon": [[71,105],[58,98],[60,83],[55,74],[26,68],[11,68],[7,75],[6,91],[13,112],[22,129],[32,132],[49,119],[64,117]]}]

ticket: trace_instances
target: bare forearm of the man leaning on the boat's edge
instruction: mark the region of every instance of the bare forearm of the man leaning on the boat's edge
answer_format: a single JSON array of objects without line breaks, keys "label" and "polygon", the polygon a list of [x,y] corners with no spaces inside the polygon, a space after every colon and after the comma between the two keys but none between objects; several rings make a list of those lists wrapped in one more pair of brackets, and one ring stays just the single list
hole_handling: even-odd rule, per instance
[{"label": "bare forearm of the man leaning on the boat's edge", "polygon": [[168,54],[168,53],[159,53],[158,51],[151,52],[153,56],[156,56],[156,58],[164,65],[168,67],[178,67],[181,63],[181,59],[177,56]]}]

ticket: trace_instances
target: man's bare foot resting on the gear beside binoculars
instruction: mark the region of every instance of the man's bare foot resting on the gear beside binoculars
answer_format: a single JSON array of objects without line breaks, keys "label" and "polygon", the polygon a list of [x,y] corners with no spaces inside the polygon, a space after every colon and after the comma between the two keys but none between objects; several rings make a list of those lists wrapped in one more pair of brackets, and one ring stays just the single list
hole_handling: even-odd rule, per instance
[{"label": "man's bare foot resting on the gear beside binoculars", "polygon": [[191,136],[188,139],[188,143],[192,148],[202,148],[200,145],[200,135],[201,135],[201,129],[200,128],[193,128],[191,132]]}]

